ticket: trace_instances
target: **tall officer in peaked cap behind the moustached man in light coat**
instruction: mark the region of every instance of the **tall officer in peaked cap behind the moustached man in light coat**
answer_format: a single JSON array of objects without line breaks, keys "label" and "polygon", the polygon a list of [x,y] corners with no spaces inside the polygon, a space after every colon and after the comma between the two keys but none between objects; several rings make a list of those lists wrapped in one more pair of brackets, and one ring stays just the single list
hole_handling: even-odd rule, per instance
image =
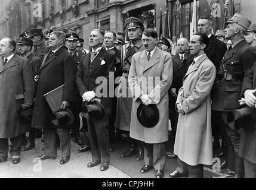
[{"label": "tall officer in peaked cap behind the moustached man in light coat", "polygon": [[[131,121],[131,107],[132,96],[128,85],[129,68],[131,67],[132,55],[136,52],[144,50],[144,46],[141,40],[141,35],[144,29],[143,23],[138,18],[130,17],[125,20],[125,26],[127,27],[129,42],[125,43],[121,49],[121,66],[122,66],[122,78],[118,87],[118,100],[116,107],[116,121],[115,126],[121,130],[130,130]],[[123,89],[123,90],[122,90]],[[143,145],[141,141],[137,141],[129,138],[129,149],[121,154],[121,157],[129,157],[137,153],[136,161],[143,159]]]}]

